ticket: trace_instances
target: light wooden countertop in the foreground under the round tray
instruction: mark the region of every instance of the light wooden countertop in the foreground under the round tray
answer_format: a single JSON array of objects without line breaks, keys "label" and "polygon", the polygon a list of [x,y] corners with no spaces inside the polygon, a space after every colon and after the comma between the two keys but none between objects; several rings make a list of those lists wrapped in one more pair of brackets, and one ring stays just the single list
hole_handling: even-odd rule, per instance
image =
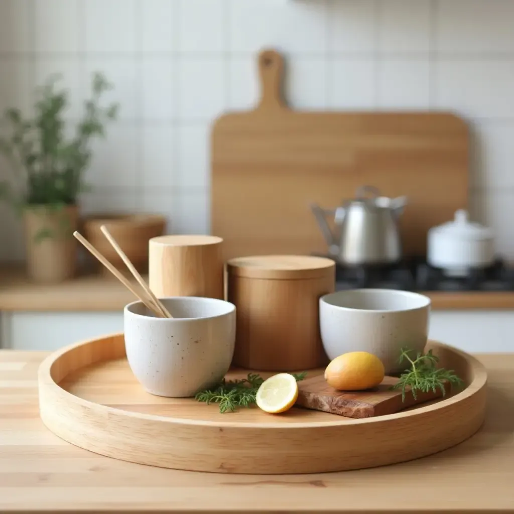
[{"label": "light wooden countertop in the foreground under the round tray", "polygon": [[[394,466],[313,475],[230,475],[125,463],[72,446],[39,419],[46,353],[0,351],[0,512],[514,512],[514,354],[479,355],[481,430]],[[427,427],[430,430],[430,427]]]}]

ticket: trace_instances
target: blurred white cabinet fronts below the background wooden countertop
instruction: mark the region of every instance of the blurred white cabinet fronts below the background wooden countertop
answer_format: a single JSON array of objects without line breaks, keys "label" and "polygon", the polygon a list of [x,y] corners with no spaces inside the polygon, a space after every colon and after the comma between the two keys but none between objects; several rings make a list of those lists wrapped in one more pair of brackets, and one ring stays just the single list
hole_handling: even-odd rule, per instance
[{"label": "blurred white cabinet fronts below the background wooden countertop", "polygon": [[[123,313],[2,313],[0,347],[52,351],[123,332]],[[432,312],[430,338],[470,353],[514,352],[514,311]]]}]

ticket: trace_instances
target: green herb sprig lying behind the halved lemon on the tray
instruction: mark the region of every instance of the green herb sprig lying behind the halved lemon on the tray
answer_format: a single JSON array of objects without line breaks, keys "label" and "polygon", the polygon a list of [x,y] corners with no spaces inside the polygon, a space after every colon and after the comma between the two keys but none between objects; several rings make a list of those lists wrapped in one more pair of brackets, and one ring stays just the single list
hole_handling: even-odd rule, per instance
[{"label": "green herb sprig lying behind the halved lemon on the tray", "polygon": [[[307,373],[291,373],[297,382],[303,380]],[[218,403],[219,412],[234,412],[238,407],[251,407],[255,403],[255,395],[259,387],[264,382],[257,373],[248,373],[246,378],[237,380],[225,380],[212,390],[200,391],[195,398],[198,401],[209,403]]]}]

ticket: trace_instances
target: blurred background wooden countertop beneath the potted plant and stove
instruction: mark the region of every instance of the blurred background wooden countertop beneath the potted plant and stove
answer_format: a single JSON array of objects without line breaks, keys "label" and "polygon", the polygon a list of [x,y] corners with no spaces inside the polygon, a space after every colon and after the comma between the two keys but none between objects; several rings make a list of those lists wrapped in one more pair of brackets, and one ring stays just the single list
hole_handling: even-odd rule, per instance
[{"label": "blurred background wooden countertop beneath the potted plant and stove", "polygon": [[[514,309],[514,291],[425,294],[432,299],[433,310]],[[30,283],[17,266],[0,268],[0,310],[119,311],[134,300],[132,293],[114,277],[103,274],[86,274],[62,284],[40,285]]]}]

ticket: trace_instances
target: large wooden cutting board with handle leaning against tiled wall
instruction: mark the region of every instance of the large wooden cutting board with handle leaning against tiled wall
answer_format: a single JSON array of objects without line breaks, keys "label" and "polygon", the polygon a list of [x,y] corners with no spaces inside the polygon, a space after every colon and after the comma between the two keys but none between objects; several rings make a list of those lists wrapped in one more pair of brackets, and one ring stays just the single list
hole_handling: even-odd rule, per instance
[{"label": "large wooden cutting board with handle leaning against tiled wall", "polygon": [[281,95],[284,63],[259,54],[255,109],[218,118],[211,134],[211,232],[225,258],[326,252],[309,204],[333,208],[357,187],[407,195],[405,254],[467,208],[468,129],[450,113],[298,112]]}]

